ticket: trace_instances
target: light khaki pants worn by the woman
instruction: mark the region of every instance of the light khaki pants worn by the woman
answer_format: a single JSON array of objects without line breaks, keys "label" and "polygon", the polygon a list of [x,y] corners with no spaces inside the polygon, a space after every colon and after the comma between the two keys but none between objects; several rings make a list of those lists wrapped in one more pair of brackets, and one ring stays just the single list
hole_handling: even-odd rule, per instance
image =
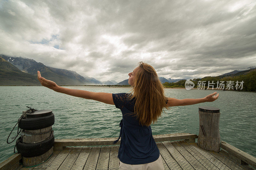
[{"label": "light khaki pants worn by the woman", "polygon": [[159,158],[154,161],[147,164],[139,164],[139,165],[130,165],[125,164],[119,160],[119,170],[128,170],[128,169],[134,169],[134,170],[164,170],[164,164],[162,162],[161,155]]}]

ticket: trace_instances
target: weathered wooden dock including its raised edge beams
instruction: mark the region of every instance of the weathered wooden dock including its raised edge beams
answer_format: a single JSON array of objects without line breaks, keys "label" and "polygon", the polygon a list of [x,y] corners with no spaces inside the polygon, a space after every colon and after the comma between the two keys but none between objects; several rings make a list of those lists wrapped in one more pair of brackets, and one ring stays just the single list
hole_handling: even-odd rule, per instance
[{"label": "weathered wooden dock including its raised edge beams", "polygon": [[[255,170],[253,167],[256,166],[256,158],[223,141],[221,141],[222,149],[217,153],[198,147],[195,143],[197,138],[195,134],[178,133],[153,135],[153,137],[165,169]],[[119,145],[110,145],[115,140],[116,138],[55,139],[53,154],[40,165],[23,167],[20,165],[21,155],[14,154],[0,164],[0,169],[117,170]],[[120,141],[117,144],[120,144]]]}]

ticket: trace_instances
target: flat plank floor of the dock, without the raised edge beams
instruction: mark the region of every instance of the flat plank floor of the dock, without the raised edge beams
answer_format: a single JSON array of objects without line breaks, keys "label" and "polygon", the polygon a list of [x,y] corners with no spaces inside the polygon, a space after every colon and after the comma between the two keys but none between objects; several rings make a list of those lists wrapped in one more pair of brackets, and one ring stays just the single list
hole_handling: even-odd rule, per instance
[{"label": "flat plank floor of the dock, without the raised edge beams", "polygon": [[[164,164],[164,169],[206,170],[206,169],[250,169],[247,165],[239,165],[228,157],[225,152],[207,152],[199,148],[196,143],[185,140],[176,142],[156,143]],[[119,169],[117,158],[119,145],[95,147],[66,147],[62,151],[54,151],[44,163],[20,170],[76,170],[76,169]]]}]

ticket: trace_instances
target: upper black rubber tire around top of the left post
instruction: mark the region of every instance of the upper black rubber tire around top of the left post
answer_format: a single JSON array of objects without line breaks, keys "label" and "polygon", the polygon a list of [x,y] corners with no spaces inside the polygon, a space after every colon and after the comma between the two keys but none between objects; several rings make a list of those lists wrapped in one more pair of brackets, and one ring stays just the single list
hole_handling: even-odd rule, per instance
[{"label": "upper black rubber tire around top of the left post", "polygon": [[23,130],[36,130],[52,126],[55,122],[54,114],[37,118],[21,119],[19,128]]}]

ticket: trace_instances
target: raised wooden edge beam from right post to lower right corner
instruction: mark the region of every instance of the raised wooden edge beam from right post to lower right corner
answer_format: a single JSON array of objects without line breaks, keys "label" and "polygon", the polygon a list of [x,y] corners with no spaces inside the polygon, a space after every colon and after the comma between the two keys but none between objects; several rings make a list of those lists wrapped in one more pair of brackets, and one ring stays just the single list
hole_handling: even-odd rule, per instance
[{"label": "raised wooden edge beam from right post to lower right corner", "polygon": [[256,158],[248,153],[241,151],[240,149],[228,144],[227,142],[221,141],[221,148],[226,150],[228,153],[234,155],[235,157],[241,159],[247,164],[256,168]]}]

